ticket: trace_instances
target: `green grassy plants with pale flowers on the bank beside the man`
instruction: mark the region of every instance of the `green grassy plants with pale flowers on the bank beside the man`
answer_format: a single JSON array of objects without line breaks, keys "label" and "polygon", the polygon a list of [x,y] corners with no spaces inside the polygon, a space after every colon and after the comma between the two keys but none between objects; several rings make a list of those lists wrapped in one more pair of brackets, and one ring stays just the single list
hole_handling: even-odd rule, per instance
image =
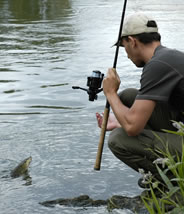
[{"label": "green grassy plants with pale flowers on the bank beside the man", "polygon": [[[149,181],[150,194],[148,196],[142,196],[142,200],[150,214],[165,214],[168,213],[168,208],[172,209],[170,214],[184,213],[184,124],[182,122],[174,123],[178,131],[164,131],[182,136],[182,155],[176,154],[175,156],[172,156],[168,146],[166,146],[165,151],[157,151],[157,153],[163,157],[159,158],[159,161],[155,161],[155,164],[158,173],[163,180],[164,188],[160,188],[159,185],[154,185],[155,181]],[[158,139],[161,140],[159,137]],[[166,167],[163,167],[164,169],[160,167],[161,163],[162,166],[163,164],[164,166],[166,165]],[[168,174],[172,174],[172,179],[170,179]],[[157,195],[159,195],[159,197]]]}]

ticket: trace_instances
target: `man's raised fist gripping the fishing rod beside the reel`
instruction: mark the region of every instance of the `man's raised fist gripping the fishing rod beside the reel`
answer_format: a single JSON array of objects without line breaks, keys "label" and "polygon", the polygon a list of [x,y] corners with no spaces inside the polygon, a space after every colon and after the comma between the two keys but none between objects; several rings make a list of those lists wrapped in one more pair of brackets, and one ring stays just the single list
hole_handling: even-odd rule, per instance
[{"label": "man's raised fist gripping the fishing rod beside the reel", "polygon": [[109,68],[107,76],[103,80],[103,91],[106,97],[117,92],[121,81],[116,72],[116,69]]}]

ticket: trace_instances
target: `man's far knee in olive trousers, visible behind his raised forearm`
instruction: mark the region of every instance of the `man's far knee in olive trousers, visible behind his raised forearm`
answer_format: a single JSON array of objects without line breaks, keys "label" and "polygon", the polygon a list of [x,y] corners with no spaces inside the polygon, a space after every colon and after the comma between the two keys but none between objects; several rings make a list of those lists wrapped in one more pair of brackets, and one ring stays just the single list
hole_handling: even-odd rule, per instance
[{"label": "man's far knee in olive trousers, visible behind his raised forearm", "polygon": [[127,107],[131,107],[138,94],[138,90],[135,88],[127,88],[119,93],[120,100]]}]

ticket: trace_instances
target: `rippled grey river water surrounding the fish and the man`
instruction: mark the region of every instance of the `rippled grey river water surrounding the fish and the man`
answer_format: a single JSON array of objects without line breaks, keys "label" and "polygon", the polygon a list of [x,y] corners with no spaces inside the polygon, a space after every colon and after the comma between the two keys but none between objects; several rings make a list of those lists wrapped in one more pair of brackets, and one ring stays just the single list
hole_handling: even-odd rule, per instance
[{"label": "rippled grey river water surrounding the fish and the man", "polygon": [[[108,213],[101,208],[46,208],[56,198],[135,196],[139,175],[106,145],[94,162],[105,105],[84,91],[93,70],[112,67],[123,2],[119,0],[0,0],[0,213]],[[160,26],[162,43],[184,51],[183,0],[129,0],[126,14],[144,11]],[[139,87],[141,70],[120,49],[121,89]],[[32,156],[32,182],[8,175]],[[131,157],[130,157],[131,158]],[[112,213],[129,213],[114,210]]]}]

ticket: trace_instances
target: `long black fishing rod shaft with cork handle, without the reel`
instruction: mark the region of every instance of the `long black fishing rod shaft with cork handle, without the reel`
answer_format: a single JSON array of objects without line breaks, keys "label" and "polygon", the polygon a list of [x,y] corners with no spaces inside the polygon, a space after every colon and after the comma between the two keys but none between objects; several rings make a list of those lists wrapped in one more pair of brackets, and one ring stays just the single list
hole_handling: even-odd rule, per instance
[{"label": "long black fishing rod shaft with cork handle, without the reel", "polygon": [[[115,68],[115,69],[116,69],[117,60],[118,60],[119,46],[120,46],[120,40],[121,40],[121,32],[123,29],[123,22],[124,22],[124,17],[125,17],[126,5],[127,5],[127,0],[124,0],[121,22],[120,22],[120,27],[119,27],[118,42],[116,45],[116,51],[115,51],[115,57],[114,57],[114,63],[113,63],[113,68]],[[98,151],[97,151],[97,155],[96,155],[96,162],[94,165],[95,170],[100,170],[100,166],[101,166],[102,152],[103,152],[105,133],[106,133],[106,128],[107,128],[107,121],[109,118],[109,111],[110,111],[110,104],[107,100],[106,105],[105,105],[105,109],[104,109],[103,122],[102,122],[100,139],[99,139],[99,144],[98,144]]]}]

